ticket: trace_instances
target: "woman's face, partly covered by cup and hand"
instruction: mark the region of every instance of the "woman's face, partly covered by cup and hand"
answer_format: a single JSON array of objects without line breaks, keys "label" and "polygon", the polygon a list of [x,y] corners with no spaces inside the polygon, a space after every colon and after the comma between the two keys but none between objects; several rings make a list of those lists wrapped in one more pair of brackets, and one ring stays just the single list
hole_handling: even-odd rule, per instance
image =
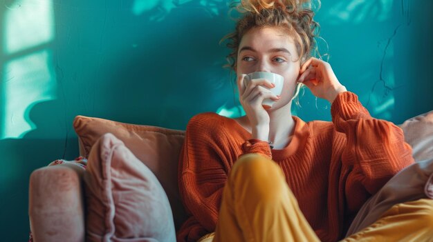
[{"label": "woman's face, partly covered by cup and hand", "polygon": [[[237,74],[273,72],[284,77],[281,99],[272,110],[291,102],[300,58],[293,38],[278,28],[254,28],[243,35],[237,54]],[[238,85],[239,86],[239,85]]]}]

